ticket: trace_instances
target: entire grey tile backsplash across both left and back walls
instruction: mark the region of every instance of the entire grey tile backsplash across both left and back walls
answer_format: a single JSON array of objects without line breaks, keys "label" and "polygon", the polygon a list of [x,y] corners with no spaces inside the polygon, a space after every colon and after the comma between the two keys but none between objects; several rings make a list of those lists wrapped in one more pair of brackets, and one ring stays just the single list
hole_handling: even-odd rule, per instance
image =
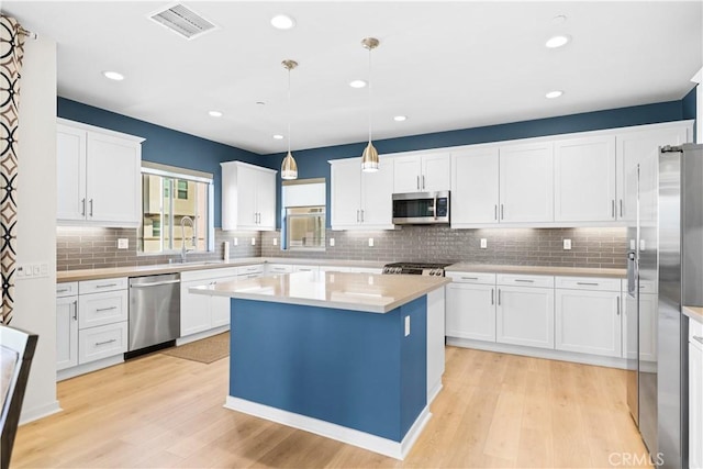
[{"label": "entire grey tile backsplash across both left and back walls", "polygon": [[[179,255],[145,256],[136,253],[135,228],[56,228],[57,270],[97,269],[166,264]],[[238,245],[234,245],[234,238]],[[230,258],[298,257],[379,261],[447,261],[561,267],[624,268],[626,228],[491,228],[451,230],[444,226],[403,226],[393,231],[327,230],[324,252],[281,250],[280,232],[223,232],[215,230],[213,253],[189,253],[189,260],[222,259],[223,242],[230,242]],[[118,238],[129,248],[118,249]],[[330,239],[335,246],[330,246]],[[373,238],[373,247],[369,247]],[[480,239],[487,248],[480,248]],[[255,244],[252,245],[252,239]],[[571,249],[563,249],[571,239]]]}]

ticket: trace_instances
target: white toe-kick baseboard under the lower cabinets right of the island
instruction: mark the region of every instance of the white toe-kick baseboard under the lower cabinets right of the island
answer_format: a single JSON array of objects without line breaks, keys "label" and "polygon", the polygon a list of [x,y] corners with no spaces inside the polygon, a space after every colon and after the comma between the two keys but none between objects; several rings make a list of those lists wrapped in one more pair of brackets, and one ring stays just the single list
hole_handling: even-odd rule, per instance
[{"label": "white toe-kick baseboard under the lower cabinets right of the island", "polygon": [[553,350],[538,347],[523,347],[521,345],[499,344],[494,342],[472,340],[458,337],[447,337],[447,345],[462,348],[477,348],[479,350],[498,351],[502,354],[523,355],[525,357],[573,361],[576,364],[595,365],[599,367],[627,369],[627,360],[625,360],[624,358],[601,357],[599,355],[578,354],[576,351]]}]

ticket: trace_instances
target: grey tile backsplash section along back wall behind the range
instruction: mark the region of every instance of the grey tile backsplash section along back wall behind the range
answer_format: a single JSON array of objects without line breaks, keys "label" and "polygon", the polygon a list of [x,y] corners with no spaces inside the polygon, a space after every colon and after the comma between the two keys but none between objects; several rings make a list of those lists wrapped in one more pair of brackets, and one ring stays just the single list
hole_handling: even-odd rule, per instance
[{"label": "grey tile backsplash section along back wall behind the range", "polygon": [[[264,257],[308,257],[380,261],[475,263],[529,266],[625,268],[626,228],[491,228],[451,230],[444,226],[403,226],[393,231],[341,232],[327,230],[324,252],[280,250],[261,234]],[[330,246],[334,238],[335,246]],[[373,247],[369,247],[373,238]],[[487,248],[480,248],[481,238]],[[563,249],[571,239],[571,249]],[[280,245],[280,243],[279,243]]]}]

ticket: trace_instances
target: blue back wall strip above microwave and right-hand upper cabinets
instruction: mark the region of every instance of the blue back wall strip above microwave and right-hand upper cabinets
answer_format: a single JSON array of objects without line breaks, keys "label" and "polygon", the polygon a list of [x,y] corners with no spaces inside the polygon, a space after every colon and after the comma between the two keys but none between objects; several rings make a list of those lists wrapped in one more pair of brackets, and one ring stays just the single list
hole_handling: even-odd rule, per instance
[{"label": "blue back wall strip above microwave and right-hand upper cabinets", "polygon": [[[397,152],[473,145],[488,142],[539,137],[572,132],[599,131],[604,129],[627,127],[632,125],[694,119],[694,94],[695,88],[681,101],[660,102],[656,104],[635,105],[631,108],[594,111],[581,114],[562,115],[558,118],[537,119],[534,121],[513,122],[484,127],[389,138],[383,141],[373,141],[373,145],[382,156],[382,154]],[[293,152],[293,156],[298,163],[298,177],[326,178],[328,204],[331,194],[330,165],[327,164],[327,160],[361,156],[361,152],[364,152],[365,146],[366,142],[360,142],[348,145]],[[283,154],[268,155],[269,167],[280,167],[283,156]],[[278,188],[278,206],[280,206],[280,188]],[[327,210],[327,227],[330,227],[330,210]],[[280,223],[280,220],[278,222]]]}]

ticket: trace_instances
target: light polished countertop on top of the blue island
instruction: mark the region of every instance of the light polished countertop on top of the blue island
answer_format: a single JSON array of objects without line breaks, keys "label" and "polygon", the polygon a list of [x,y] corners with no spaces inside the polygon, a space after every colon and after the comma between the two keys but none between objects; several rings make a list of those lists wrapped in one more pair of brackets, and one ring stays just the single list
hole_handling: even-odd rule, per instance
[{"label": "light polished countertop on top of the blue island", "polygon": [[295,272],[192,287],[191,293],[388,313],[451,280],[428,276]]}]

